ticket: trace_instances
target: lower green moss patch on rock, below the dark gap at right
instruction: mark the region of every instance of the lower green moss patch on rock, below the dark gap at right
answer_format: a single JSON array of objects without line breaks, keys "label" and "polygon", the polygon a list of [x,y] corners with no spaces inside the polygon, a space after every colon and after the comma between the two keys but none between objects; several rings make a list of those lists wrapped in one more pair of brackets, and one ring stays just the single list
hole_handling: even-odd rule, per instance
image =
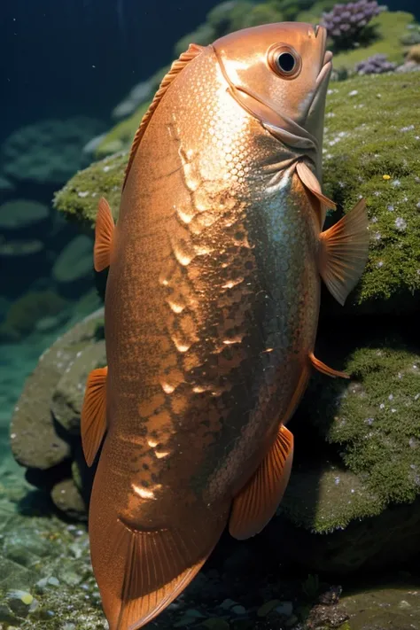
[{"label": "lower green moss patch on rock, below the dark gap at right", "polygon": [[322,412],[312,420],[379,503],[412,502],[420,491],[420,355],[398,338],[388,344],[377,341],[347,357],[354,379],[344,390],[323,380]]}]

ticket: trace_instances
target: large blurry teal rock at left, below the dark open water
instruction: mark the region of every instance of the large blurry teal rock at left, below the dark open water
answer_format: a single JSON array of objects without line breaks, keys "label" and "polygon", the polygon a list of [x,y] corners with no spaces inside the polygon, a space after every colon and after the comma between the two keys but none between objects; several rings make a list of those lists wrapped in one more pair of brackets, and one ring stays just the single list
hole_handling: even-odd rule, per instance
[{"label": "large blurry teal rock at left, below the dark open water", "polygon": [[89,163],[83,146],[103,131],[102,122],[84,116],[20,128],[0,148],[4,174],[19,182],[62,184]]}]

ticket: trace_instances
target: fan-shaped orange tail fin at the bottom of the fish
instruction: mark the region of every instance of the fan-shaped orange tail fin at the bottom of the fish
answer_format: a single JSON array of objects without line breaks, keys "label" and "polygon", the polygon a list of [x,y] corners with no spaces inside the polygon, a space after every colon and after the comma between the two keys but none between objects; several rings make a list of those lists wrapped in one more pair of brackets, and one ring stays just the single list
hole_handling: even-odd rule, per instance
[{"label": "fan-shaped orange tail fin at the bottom of the fish", "polygon": [[109,587],[109,575],[104,575],[104,580],[97,576],[110,630],[137,630],[164,611],[206,562],[222,535],[227,515],[225,509],[225,516],[216,524],[195,524],[186,533],[142,531],[116,519],[106,536],[106,553],[110,554],[107,571],[113,572],[115,566],[121,587],[115,588],[115,582]]}]

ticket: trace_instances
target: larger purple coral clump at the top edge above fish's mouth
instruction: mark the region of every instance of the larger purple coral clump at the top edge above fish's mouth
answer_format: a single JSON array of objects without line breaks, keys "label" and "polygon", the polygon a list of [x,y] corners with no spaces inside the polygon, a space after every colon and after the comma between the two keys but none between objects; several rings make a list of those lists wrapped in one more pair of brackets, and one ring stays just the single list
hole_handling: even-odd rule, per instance
[{"label": "larger purple coral clump at the top edge above fish's mouth", "polygon": [[359,42],[370,19],[384,9],[386,7],[379,6],[377,0],[335,4],[331,12],[323,13],[322,24],[338,49],[348,48]]}]

